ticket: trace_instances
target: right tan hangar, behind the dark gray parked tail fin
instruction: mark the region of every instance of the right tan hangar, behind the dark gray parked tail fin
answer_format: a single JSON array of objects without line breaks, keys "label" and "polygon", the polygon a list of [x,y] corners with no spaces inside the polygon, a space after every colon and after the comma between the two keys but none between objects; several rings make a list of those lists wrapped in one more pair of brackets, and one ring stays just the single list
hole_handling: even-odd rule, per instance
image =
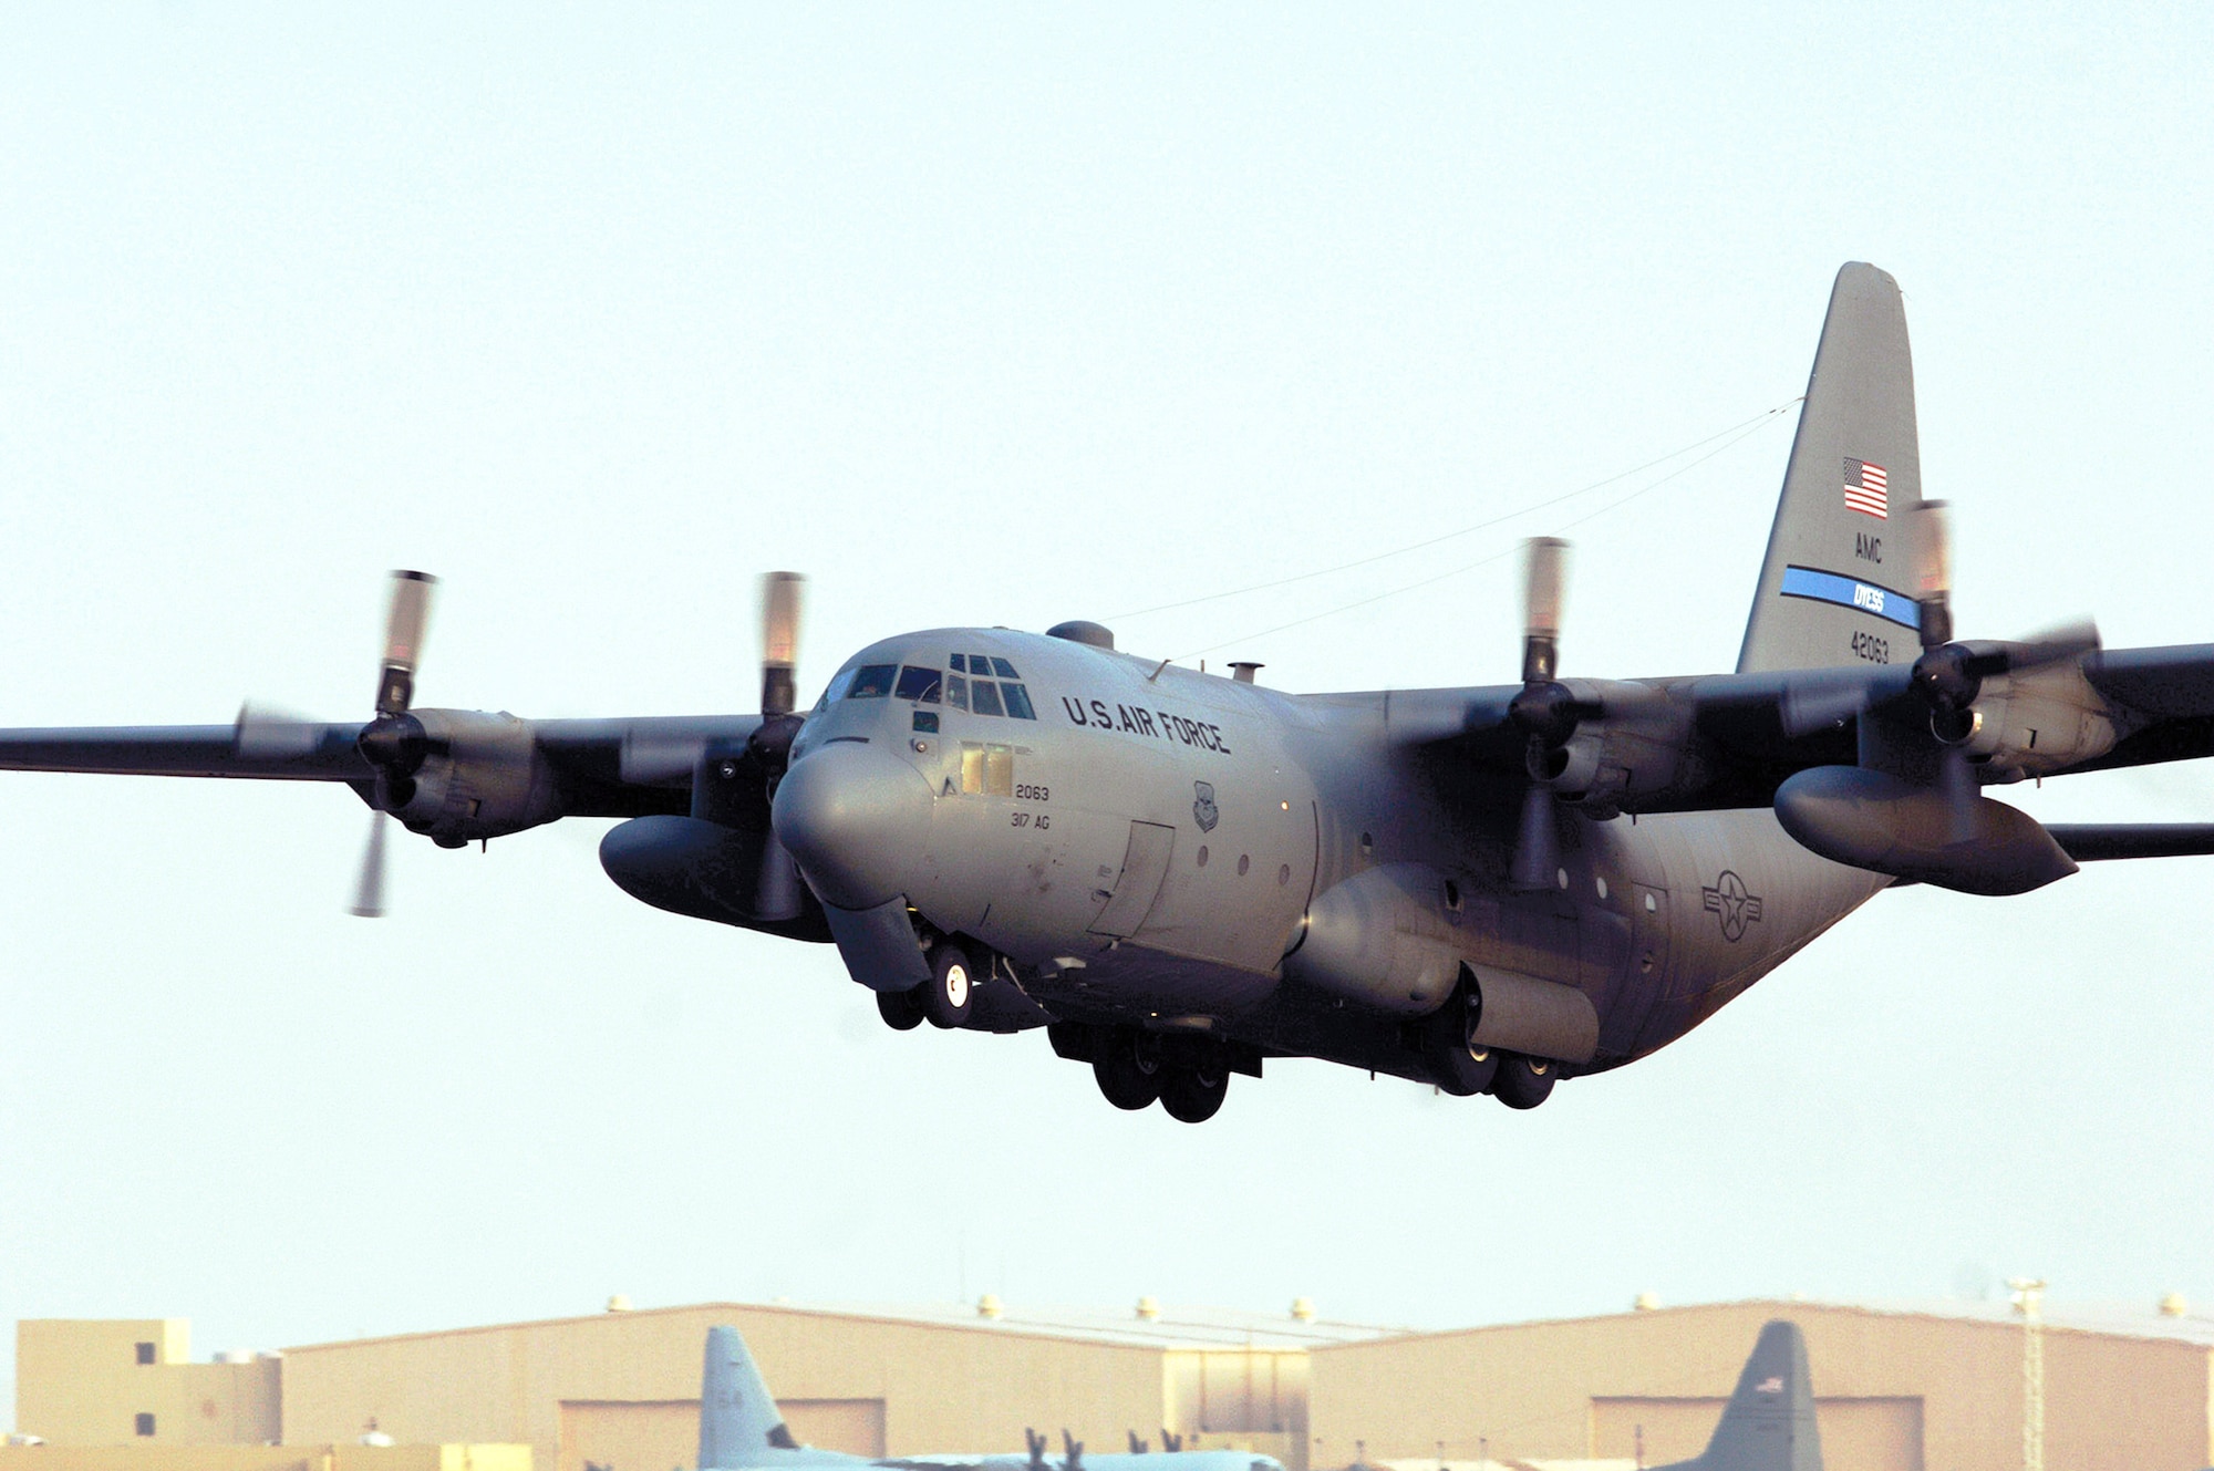
[{"label": "right tan hangar, behind the dark gray parked tail fin", "polygon": [[[2021,1327],[1804,1303],[1727,1303],[1618,1318],[1421,1334],[1313,1351],[1308,1455],[1344,1467],[1437,1455],[1623,1455],[1623,1400],[1709,1400],[1736,1387],[1760,1325],[1807,1334],[1818,1400],[1895,1402],[1840,1411],[1827,1471],[2017,1471]],[[2070,1471],[2203,1471],[2210,1351],[2156,1338],[2046,1329],[2046,1464]],[[1897,1449],[1920,1402],[1920,1458]],[[1703,1416],[1711,1427],[1711,1418]],[[1665,1420],[1669,1453],[1689,1420]],[[1893,1449],[1880,1449],[1893,1447]],[[1649,1447],[1652,1449],[1652,1447]],[[1824,1440],[1824,1449],[1831,1449]],[[1647,1455],[1656,1460],[1656,1455]],[[1864,1462],[1864,1464],[1855,1464]]]}]

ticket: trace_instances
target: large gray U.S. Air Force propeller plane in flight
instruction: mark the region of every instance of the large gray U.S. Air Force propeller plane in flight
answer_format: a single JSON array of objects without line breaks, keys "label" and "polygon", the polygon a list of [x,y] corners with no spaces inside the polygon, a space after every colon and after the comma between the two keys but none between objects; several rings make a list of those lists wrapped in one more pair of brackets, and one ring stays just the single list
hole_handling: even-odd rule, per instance
[{"label": "large gray U.S. Air Force propeller plane in flight", "polygon": [[1891,884],[2015,895],[2214,826],[2041,826],[1986,786],[2214,753],[2214,645],[1953,636],[1897,284],[1838,272],[1734,673],[1568,678],[1530,543],[1521,682],[1295,696],[1045,634],[875,642],[762,713],[414,709],[394,578],[368,722],[0,731],[0,767],[343,782],[441,846],[620,817],[646,904],[835,944],[912,1028],[1043,1028],[1118,1108],[1211,1117],[1322,1057],[1541,1103],[1683,1037]]}]

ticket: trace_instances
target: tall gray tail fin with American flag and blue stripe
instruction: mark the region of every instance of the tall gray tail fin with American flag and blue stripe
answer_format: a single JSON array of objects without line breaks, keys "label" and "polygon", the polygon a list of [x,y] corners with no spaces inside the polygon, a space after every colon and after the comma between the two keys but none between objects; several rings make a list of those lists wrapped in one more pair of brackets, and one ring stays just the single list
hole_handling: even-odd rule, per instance
[{"label": "tall gray tail fin with American flag and blue stripe", "polygon": [[1920,503],[1900,284],[1851,261],[1829,292],[1738,671],[1913,660]]}]

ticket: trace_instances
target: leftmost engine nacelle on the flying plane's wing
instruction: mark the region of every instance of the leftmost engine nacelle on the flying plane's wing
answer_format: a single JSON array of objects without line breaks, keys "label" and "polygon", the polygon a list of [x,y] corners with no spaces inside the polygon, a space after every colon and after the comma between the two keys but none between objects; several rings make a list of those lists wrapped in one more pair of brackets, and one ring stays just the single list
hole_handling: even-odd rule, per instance
[{"label": "leftmost engine nacelle on the flying plane's wing", "polygon": [[554,769],[516,716],[418,709],[425,755],[392,815],[445,848],[505,837],[560,817]]}]

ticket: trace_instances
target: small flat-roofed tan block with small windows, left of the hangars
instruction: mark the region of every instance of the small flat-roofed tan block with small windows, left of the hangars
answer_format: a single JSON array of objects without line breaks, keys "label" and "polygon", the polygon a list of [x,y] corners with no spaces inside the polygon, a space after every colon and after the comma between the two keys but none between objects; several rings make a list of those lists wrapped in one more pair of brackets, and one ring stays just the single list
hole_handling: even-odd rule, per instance
[{"label": "small flat-roofed tan block with small windows, left of the hangars", "polygon": [[[139,1362],[153,1345],[153,1362]],[[49,1444],[261,1444],[281,1440],[279,1362],[195,1365],[184,1318],[24,1318],[15,1325],[15,1429]],[[153,1436],[137,1418],[153,1416]]]}]

